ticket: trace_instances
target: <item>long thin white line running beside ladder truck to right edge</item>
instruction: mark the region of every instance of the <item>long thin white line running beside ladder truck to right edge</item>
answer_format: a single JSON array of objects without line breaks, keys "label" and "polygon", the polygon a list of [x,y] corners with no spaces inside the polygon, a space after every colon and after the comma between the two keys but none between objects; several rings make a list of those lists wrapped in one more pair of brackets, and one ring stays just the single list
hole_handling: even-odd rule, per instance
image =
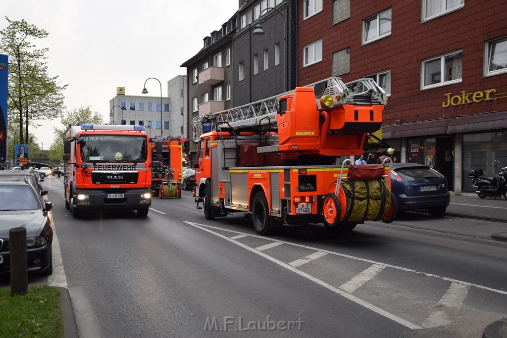
[{"label": "long thin white line running beside ladder truck to right edge", "polygon": [[[246,236],[255,237],[255,238],[266,239],[266,236],[258,236],[258,235],[246,234],[246,233],[242,233],[242,232],[235,231],[235,230],[228,230],[228,229],[223,229],[223,228],[218,228],[218,227],[207,226],[206,224],[192,223],[192,222],[188,222],[188,221],[185,221],[185,223],[188,223],[188,224],[191,224],[191,225],[198,224],[199,226],[203,226],[203,227],[206,227],[206,228],[209,228],[209,229],[215,229],[215,230],[229,232],[229,233],[234,233],[234,234],[240,234],[240,235],[246,235]],[[490,287],[487,287],[487,286],[484,286],[484,285],[479,285],[479,284],[474,284],[474,283],[468,283],[468,282],[460,281],[460,280],[457,280],[457,279],[454,279],[454,278],[448,278],[448,277],[439,276],[439,275],[435,275],[435,274],[429,274],[429,273],[422,272],[422,271],[417,271],[417,270],[413,270],[413,269],[398,267],[398,266],[395,266],[395,265],[385,264],[385,263],[378,262],[378,261],[371,260],[371,259],[355,257],[355,256],[347,255],[347,254],[344,254],[344,253],[339,253],[339,252],[334,252],[334,251],[330,251],[330,250],[319,249],[319,248],[315,248],[315,247],[311,247],[311,246],[307,246],[307,245],[303,245],[303,244],[297,244],[297,243],[291,243],[291,242],[286,242],[286,241],[280,241],[280,240],[277,240],[277,239],[271,239],[271,240],[275,241],[275,242],[280,242],[282,244],[288,244],[288,245],[297,246],[297,247],[300,247],[300,248],[306,248],[306,249],[310,249],[310,250],[314,250],[314,251],[326,252],[326,253],[330,253],[330,254],[333,254],[333,255],[336,255],[336,256],[350,258],[350,259],[355,259],[355,260],[359,260],[359,261],[364,261],[364,262],[368,262],[368,263],[371,263],[371,264],[378,264],[378,265],[384,266],[386,268],[392,268],[392,269],[401,270],[401,271],[405,271],[405,272],[415,273],[415,274],[418,274],[418,275],[424,275],[424,276],[427,276],[427,277],[438,278],[438,279],[441,279],[441,280],[444,280],[444,281],[456,282],[456,283],[462,284],[462,285],[475,286],[475,287],[477,287],[479,289],[488,290],[488,291],[492,291],[492,292],[495,292],[495,293],[500,293],[500,294],[507,295],[507,291],[504,291],[504,290],[493,289],[493,288],[490,288]]]}]

